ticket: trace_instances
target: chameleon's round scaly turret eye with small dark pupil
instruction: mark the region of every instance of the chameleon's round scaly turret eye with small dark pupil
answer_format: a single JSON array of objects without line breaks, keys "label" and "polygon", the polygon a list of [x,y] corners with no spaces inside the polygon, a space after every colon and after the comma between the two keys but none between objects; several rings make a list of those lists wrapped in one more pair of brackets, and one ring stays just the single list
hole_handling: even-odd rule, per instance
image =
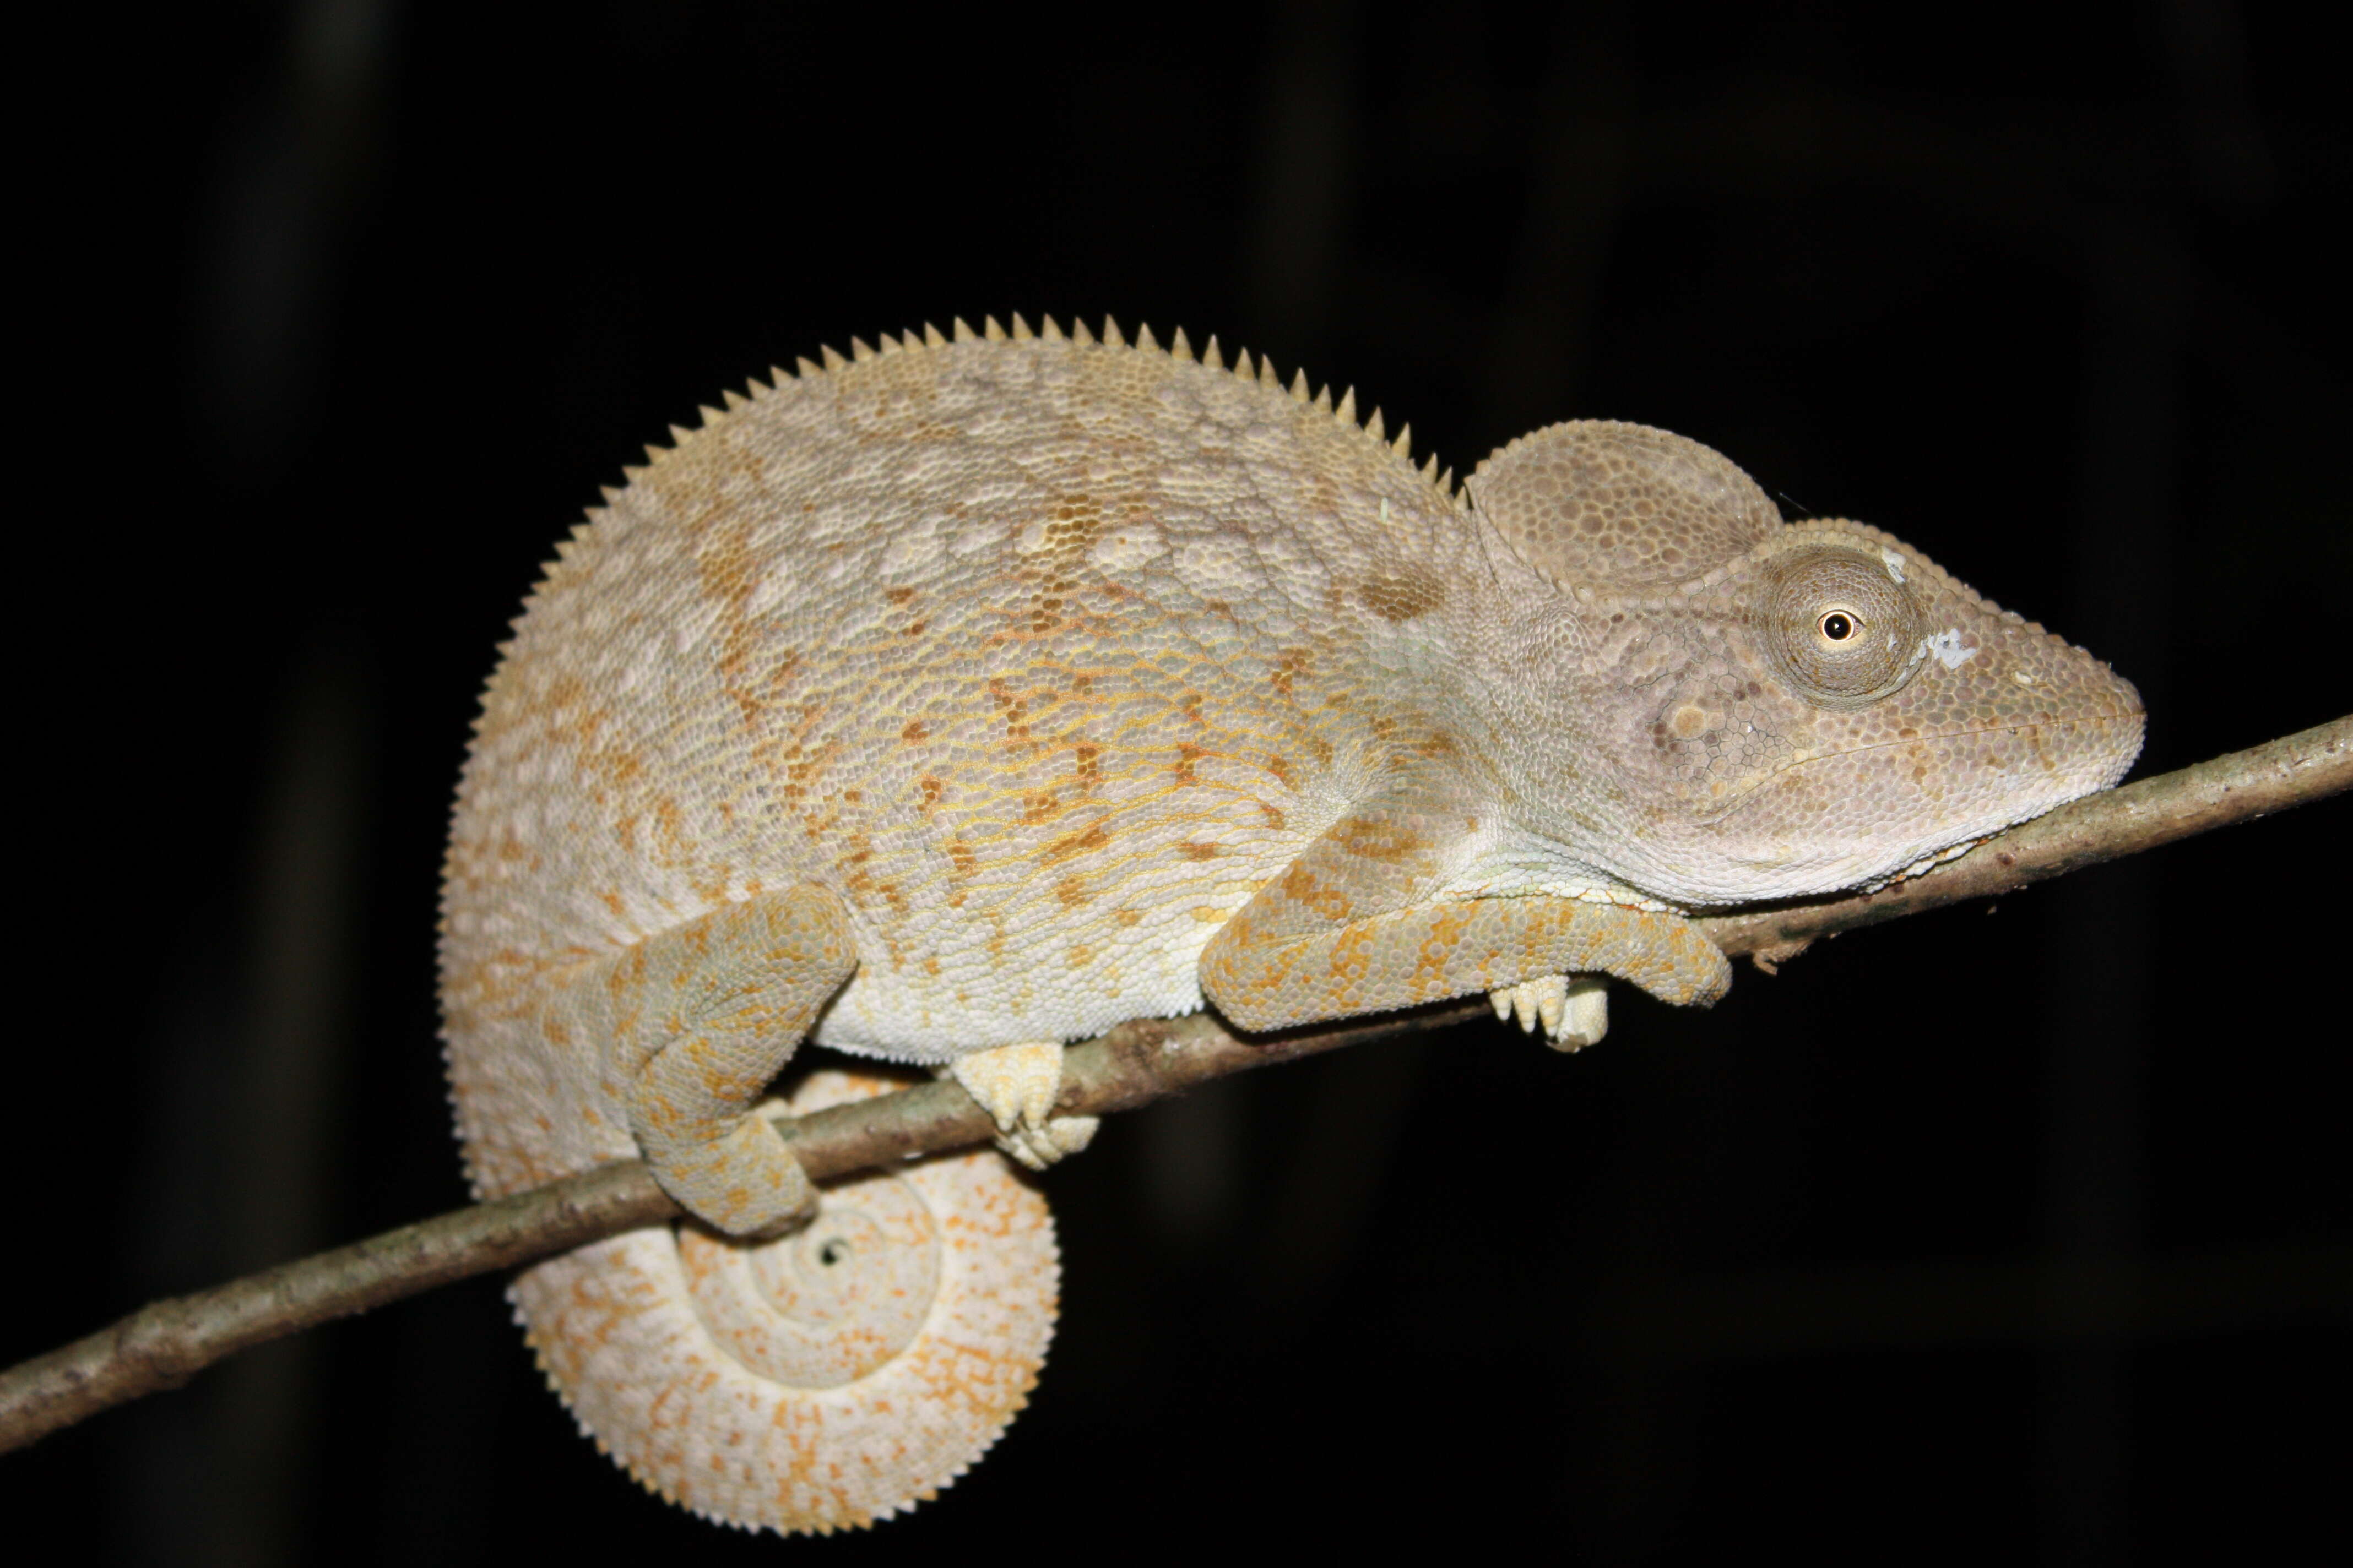
[{"label": "chameleon's round scaly turret eye with small dark pupil", "polygon": [[1800,545],[1769,567],[1765,649],[1817,708],[1861,708],[1918,665],[1920,609],[1911,590],[1861,550]]}]

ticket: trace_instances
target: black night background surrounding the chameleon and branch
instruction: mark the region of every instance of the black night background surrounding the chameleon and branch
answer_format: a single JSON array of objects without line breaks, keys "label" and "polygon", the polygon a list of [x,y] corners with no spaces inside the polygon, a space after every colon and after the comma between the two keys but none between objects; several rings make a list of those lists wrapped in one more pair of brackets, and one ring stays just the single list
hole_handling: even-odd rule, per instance
[{"label": "black night background surrounding the chameleon and branch", "polygon": [[[1614,416],[2108,656],[2141,771],[2346,708],[2325,7],[186,7],[19,45],[0,1359],[464,1199],[452,780],[598,484],[819,343],[1266,350],[1468,468]],[[1106,1126],[939,1502],[779,1544],[579,1439],[471,1281],[0,1460],[7,1556],[1414,1540],[2257,1559],[2344,1535],[2346,806]],[[47,1016],[45,999],[64,1006]]]}]

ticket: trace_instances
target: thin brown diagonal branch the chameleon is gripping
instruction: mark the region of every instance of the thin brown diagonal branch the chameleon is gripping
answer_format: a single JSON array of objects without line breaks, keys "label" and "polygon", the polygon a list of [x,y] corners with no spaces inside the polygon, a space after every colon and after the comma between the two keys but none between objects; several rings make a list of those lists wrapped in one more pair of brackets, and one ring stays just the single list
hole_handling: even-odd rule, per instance
[{"label": "thin brown diagonal branch the chameleon is gripping", "polygon": [[[2353,717],[2092,795],[1878,893],[1715,914],[1699,926],[1727,954],[1746,952],[1769,964],[1819,936],[2012,893],[2101,860],[2322,799],[2348,785]],[[1071,1048],[1056,1110],[1132,1110],[1228,1072],[1445,1027],[1485,1011],[1485,999],[1468,999],[1252,1039],[1226,1032],[1207,1013],[1122,1023]],[[784,1128],[802,1166],[819,1180],[986,1143],[995,1131],[988,1114],[953,1081],[838,1105]],[[0,1453],[127,1399],[179,1387],[249,1345],[675,1218],[678,1208],[645,1164],[631,1159],[153,1302],[85,1340],[0,1373]]]}]

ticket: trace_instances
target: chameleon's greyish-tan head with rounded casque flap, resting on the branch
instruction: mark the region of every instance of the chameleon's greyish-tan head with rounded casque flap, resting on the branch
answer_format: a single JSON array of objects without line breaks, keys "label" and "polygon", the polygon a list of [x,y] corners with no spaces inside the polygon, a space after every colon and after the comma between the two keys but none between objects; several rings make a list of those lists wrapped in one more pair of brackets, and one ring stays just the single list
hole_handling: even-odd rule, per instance
[{"label": "chameleon's greyish-tan head with rounded casque flap, resting on the branch", "polygon": [[[1868,884],[2113,785],[2141,698],[1878,529],[1784,524],[1727,458],[1664,430],[1553,425],[1471,480],[1551,583],[1515,621],[1579,764],[1532,823],[1673,903]],[[1525,668],[1525,665],[1522,665]],[[1591,778],[1591,773],[1588,773]],[[1600,832],[1595,832],[1600,827]]]}]

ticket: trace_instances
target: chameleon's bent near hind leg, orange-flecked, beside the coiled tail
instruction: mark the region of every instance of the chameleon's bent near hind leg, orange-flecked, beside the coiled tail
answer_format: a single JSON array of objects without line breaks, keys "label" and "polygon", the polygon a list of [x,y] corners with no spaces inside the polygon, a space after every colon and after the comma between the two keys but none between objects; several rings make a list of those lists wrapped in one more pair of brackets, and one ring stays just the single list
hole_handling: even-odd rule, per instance
[{"label": "chameleon's bent near hind leg, orange-flecked, beside the coiled tail", "polygon": [[800,1161],[751,1110],[856,964],[840,898],[798,886],[711,910],[614,966],[628,1131],[699,1220],[751,1237],[814,1211]]}]

